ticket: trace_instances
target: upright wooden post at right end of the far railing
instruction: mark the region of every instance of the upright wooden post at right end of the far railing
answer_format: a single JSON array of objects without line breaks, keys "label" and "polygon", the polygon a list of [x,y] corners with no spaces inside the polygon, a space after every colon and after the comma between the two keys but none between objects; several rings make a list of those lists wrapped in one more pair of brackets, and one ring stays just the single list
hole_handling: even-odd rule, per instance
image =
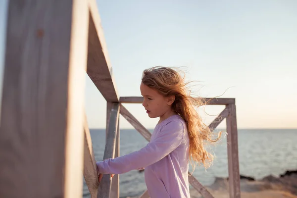
[{"label": "upright wooden post at right end of the far railing", "polygon": [[229,171],[229,194],[230,198],[240,198],[240,173],[238,157],[238,134],[235,104],[229,104],[230,114],[227,117],[227,149]]}]

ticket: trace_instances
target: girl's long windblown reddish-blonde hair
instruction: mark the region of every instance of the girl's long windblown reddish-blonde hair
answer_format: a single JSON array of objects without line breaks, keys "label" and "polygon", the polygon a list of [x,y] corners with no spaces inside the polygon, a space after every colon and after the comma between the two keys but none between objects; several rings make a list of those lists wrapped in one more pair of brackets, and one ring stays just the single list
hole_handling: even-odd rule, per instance
[{"label": "girl's long windblown reddish-blonde hair", "polygon": [[185,83],[184,78],[174,69],[158,66],[144,70],[142,82],[164,97],[175,96],[171,107],[187,124],[190,138],[190,162],[192,166],[194,161],[195,166],[197,163],[202,163],[205,168],[208,168],[213,160],[213,155],[205,149],[205,145],[219,140],[221,132],[216,139],[212,139],[212,131],[203,123],[195,109],[206,102],[201,98],[190,96],[186,87],[189,83]]}]

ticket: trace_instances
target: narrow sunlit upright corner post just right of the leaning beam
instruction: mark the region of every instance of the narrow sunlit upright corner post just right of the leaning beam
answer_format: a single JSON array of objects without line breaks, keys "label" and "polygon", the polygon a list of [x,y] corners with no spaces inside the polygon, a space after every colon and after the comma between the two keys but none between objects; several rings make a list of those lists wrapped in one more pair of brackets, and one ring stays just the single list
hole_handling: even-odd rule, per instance
[{"label": "narrow sunlit upright corner post just right of the leaning beam", "polygon": [[[118,121],[118,128],[115,140],[114,157],[120,156],[120,121]],[[110,198],[119,198],[120,196],[120,175],[114,175],[111,181]]]}]

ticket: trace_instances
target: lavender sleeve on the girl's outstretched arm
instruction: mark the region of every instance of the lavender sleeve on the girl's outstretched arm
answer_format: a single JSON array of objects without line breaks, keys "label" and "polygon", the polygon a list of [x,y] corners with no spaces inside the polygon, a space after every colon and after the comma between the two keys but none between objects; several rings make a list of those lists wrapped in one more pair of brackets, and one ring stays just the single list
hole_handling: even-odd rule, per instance
[{"label": "lavender sleeve on the girl's outstretched arm", "polygon": [[177,148],[184,138],[184,126],[180,120],[166,124],[153,141],[138,151],[114,159],[98,161],[99,173],[122,174],[151,165]]}]

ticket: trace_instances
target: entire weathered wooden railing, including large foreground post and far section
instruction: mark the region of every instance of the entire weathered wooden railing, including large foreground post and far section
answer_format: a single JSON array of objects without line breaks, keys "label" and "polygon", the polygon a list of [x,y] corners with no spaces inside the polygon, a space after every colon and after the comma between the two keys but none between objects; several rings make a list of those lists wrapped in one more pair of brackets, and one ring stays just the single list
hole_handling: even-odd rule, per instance
[{"label": "entire weathered wooden railing, including large foreground post and far section", "polygon": [[[83,172],[92,198],[119,198],[119,175],[98,184],[84,71],[107,102],[104,159],[119,156],[119,114],[146,140],[151,134],[123,106],[142,98],[117,94],[96,0],[10,0],[5,47],[0,197],[80,198]],[[226,105],[209,127],[227,118],[229,192],[240,198],[235,99],[209,104]],[[189,182],[212,198],[193,176]]]}]

